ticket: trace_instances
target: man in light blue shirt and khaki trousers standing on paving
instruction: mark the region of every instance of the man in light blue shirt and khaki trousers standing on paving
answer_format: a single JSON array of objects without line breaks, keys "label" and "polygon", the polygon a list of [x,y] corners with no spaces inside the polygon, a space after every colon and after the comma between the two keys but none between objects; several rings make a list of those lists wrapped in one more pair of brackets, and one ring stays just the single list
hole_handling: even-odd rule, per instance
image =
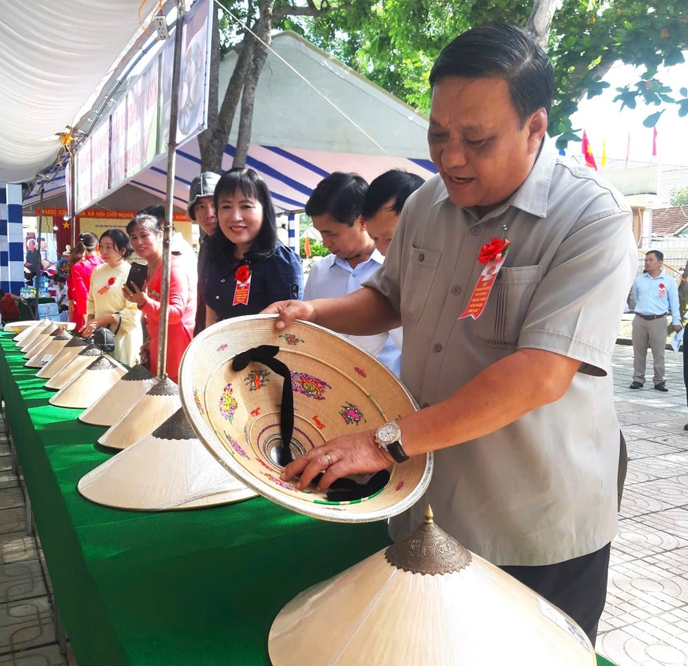
[{"label": "man in light blue shirt and khaki trousers standing on paving", "polygon": [[676,282],[663,270],[664,254],[650,250],[645,254],[645,272],[633,283],[636,316],[633,318],[633,382],[630,388],[643,388],[647,348],[652,350],[654,388],[669,391],[664,375],[664,351],[667,344],[667,312],[671,311],[674,331],[680,331],[681,313]]}]

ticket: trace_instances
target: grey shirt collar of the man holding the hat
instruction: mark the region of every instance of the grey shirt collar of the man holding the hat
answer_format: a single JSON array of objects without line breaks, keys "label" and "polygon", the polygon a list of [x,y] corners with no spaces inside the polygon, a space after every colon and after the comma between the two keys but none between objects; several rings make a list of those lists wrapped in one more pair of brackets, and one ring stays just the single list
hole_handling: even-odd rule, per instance
[{"label": "grey shirt collar of the man holding the hat", "polygon": [[[519,189],[517,189],[502,205],[497,206],[497,208],[490,211],[482,219],[487,220],[498,216],[510,206],[521,209],[539,218],[546,217],[550,183],[552,182],[552,174],[554,174],[555,165],[557,165],[558,160],[559,154],[557,153],[555,142],[545,134],[540,153],[521,187],[519,187]],[[449,199],[449,193],[447,192],[447,188],[444,187],[444,182],[440,178],[435,195],[433,196],[432,205],[438,205],[447,199]],[[475,208],[464,208],[464,210],[476,220],[480,218]]]}]

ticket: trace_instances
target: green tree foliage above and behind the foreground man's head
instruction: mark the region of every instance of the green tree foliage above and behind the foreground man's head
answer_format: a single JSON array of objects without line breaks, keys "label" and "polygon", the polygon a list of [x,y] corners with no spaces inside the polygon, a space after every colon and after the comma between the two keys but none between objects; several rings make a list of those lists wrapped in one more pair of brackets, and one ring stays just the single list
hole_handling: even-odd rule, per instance
[{"label": "green tree foliage above and behind the foreground man's head", "polygon": [[[295,18],[286,27],[427,113],[427,76],[442,46],[473,25],[505,21],[526,26],[532,1],[354,0],[346,12],[311,21]],[[603,76],[616,61],[645,68],[638,81],[617,90],[621,107],[677,104],[688,114],[685,88],[672,91],[657,78],[660,65],[682,63],[688,48],[688,5],[676,0],[619,0],[601,3],[563,0],[554,14],[548,52],[555,64],[555,98],[550,134],[559,145],[580,141],[570,116],[583,96],[601,94]],[[650,114],[653,127],[660,114]]]}]

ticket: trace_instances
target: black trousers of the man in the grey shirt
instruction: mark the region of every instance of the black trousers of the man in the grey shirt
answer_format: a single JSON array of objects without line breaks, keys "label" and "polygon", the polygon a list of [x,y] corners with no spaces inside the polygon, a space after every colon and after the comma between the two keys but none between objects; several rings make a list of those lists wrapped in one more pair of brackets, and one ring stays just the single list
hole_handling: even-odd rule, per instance
[{"label": "black trousers of the man in the grey shirt", "polygon": [[607,599],[610,545],[557,564],[499,568],[570,615],[594,645]]}]

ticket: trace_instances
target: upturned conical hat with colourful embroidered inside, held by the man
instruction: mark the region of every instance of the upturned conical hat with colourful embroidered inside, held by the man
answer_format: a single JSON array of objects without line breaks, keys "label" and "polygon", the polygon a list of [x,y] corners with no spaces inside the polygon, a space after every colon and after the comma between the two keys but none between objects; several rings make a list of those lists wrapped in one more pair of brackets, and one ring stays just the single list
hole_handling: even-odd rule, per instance
[{"label": "upturned conical hat with colourful embroidered inside, held by the man", "polygon": [[[393,464],[389,477],[358,475],[345,492],[298,490],[281,481],[283,379],[252,361],[233,369],[235,356],[273,346],[288,366],[294,402],[294,457],[327,439],[378,428],[416,409],[399,380],[375,357],[321,326],[294,322],[283,333],[274,315],[218,322],[186,348],[180,394],[198,438],[226,468],[264,497],[294,511],[339,522],[387,518],[416,503],[427,488],[432,456]],[[353,486],[357,483],[357,486]],[[348,497],[348,499],[347,499]]]}]

